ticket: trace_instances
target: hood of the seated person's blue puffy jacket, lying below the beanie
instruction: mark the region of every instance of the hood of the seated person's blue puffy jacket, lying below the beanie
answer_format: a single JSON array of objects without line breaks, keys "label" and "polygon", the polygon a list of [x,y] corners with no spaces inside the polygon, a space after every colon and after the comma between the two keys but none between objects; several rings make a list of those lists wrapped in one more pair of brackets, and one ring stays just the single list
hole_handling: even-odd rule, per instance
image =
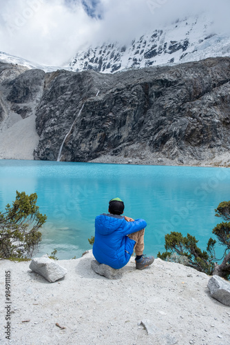
[{"label": "hood of the seated person's blue puffy jacket, lying below the beanie", "polygon": [[125,218],[120,215],[103,214],[98,215],[95,219],[95,230],[101,235],[109,235],[121,228]]}]

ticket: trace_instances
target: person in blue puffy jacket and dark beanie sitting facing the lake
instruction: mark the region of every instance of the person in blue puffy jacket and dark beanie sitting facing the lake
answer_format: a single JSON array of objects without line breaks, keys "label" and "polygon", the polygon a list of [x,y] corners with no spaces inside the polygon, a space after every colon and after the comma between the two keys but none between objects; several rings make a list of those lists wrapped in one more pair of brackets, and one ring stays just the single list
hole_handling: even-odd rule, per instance
[{"label": "person in blue puffy jacket and dark beanie sitting facing the lake", "polygon": [[95,219],[93,254],[100,264],[122,268],[129,262],[135,249],[136,268],[143,270],[154,262],[154,257],[144,257],[144,219],[123,217],[124,203],[118,197],[109,201],[109,214]]}]

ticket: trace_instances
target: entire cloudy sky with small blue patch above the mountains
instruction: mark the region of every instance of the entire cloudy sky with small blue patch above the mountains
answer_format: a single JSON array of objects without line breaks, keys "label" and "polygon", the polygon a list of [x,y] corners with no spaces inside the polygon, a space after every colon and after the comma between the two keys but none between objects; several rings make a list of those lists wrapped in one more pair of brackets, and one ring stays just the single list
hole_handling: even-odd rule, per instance
[{"label": "entire cloudy sky with small blue patch above the mountains", "polygon": [[229,0],[0,0],[0,6],[0,51],[53,66],[94,42],[125,43],[204,11],[220,30],[230,27]]}]

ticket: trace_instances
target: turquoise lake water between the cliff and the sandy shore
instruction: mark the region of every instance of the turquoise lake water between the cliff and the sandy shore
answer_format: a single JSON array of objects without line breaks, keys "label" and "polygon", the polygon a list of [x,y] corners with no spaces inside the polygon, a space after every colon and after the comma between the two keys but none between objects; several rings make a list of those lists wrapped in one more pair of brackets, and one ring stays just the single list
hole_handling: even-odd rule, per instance
[{"label": "turquoise lake water between the cliff and the sandy shore", "polygon": [[113,197],[123,199],[125,215],[147,221],[147,255],[164,251],[171,231],[196,236],[205,250],[221,221],[214,209],[229,201],[229,187],[229,168],[0,160],[0,210],[12,204],[16,190],[36,193],[48,216],[39,255],[56,248],[59,259],[92,248],[87,239],[94,235],[94,219],[107,213]]}]

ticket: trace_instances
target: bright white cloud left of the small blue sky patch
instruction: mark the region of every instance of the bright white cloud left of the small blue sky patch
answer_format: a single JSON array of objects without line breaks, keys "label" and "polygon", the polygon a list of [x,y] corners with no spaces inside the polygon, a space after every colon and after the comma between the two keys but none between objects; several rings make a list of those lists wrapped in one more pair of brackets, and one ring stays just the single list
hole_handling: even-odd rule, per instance
[{"label": "bright white cloud left of the small blue sky patch", "polygon": [[63,0],[1,0],[0,4],[0,50],[39,63],[61,65],[98,26],[82,6],[67,7]]}]

